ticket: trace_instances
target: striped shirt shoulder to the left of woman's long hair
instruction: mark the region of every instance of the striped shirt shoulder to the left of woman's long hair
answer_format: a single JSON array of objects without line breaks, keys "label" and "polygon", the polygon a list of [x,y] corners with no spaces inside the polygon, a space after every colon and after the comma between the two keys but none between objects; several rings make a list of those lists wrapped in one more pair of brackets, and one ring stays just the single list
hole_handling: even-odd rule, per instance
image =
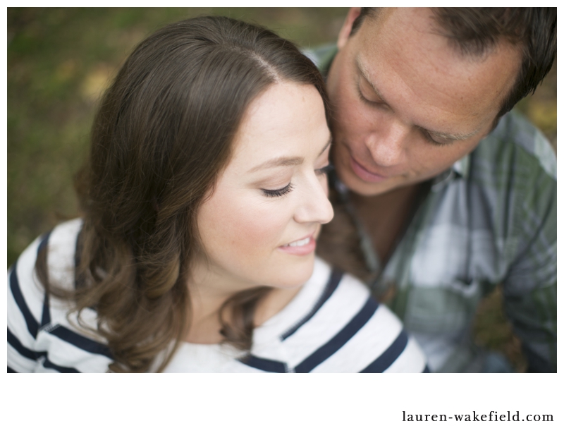
[{"label": "striped shirt shoulder to the left of woman's long hair", "polygon": [[[45,293],[35,269],[47,251],[49,284],[74,288],[75,248],[81,219],[64,222],[39,236],[8,271],[8,371],[105,371],[111,358],[107,348],[79,328],[71,303]],[[81,315],[91,325],[92,309]],[[72,323],[71,323],[72,321]]]}]

